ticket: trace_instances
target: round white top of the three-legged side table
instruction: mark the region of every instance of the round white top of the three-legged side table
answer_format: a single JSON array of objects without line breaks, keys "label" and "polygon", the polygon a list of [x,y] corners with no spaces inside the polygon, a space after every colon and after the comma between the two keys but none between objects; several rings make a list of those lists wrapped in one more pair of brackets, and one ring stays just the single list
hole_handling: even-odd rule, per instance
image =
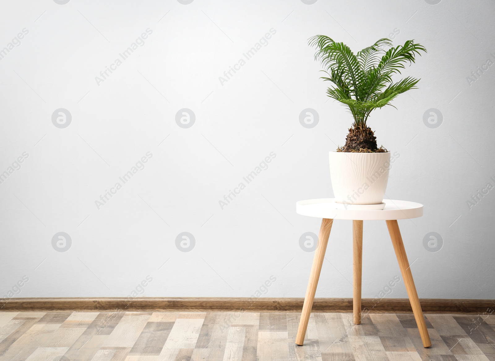
[{"label": "round white top of the three-legged side table", "polygon": [[417,218],[423,215],[423,205],[415,202],[384,199],[385,208],[337,209],[335,198],[309,199],[296,202],[296,212],[310,217],[354,220],[390,220]]}]

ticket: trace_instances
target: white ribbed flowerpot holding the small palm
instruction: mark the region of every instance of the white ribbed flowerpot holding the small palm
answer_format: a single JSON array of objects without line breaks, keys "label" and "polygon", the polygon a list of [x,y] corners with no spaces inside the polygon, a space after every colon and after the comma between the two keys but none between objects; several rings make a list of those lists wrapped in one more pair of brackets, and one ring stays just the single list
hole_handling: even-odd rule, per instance
[{"label": "white ribbed flowerpot holding the small palm", "polygon": [[330,152],[330,178],[337,203],[379,205],[387,189],[390,152]]}]

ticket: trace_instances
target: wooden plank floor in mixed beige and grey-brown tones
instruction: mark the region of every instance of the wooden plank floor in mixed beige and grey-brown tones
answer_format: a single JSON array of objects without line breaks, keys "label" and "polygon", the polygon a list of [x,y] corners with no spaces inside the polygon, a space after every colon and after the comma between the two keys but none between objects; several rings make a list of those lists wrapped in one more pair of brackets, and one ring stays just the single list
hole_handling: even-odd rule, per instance
[{"label": "wooden plank floor in mixed beige and grey-brown tones", "polygon": [[[428,314],[433,346],[412,314],[0,312],[1,361],[495,360],[495,316]],[[484,319],[485,318],[485,319]]]}]

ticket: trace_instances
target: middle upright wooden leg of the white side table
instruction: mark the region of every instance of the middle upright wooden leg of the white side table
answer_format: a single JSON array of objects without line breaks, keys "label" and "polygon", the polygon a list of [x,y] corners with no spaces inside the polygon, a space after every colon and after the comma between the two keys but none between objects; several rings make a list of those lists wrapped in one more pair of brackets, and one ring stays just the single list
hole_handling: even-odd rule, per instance
[{"label": "middle upright wooden leg of the white side table", "polygon": [[361,275],[363,262],[363,221],[352,221],[352,274],[354,293],[352,298],[353,321],[361,323]]}]

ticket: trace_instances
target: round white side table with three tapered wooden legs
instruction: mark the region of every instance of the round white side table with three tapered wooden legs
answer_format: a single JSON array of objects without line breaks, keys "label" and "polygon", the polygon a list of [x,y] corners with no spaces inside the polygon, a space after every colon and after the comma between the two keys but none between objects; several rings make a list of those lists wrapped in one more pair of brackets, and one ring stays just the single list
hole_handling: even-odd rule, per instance
[{"label": "round white side table with three tapered wooden legs", "polygon": [[353,322],[361,323],[361,272],[362,272],[362,250],[363,250],[363,220],[385,220],[389,229],[390,238],[396,252],[400,272],[404,279],[404,284],[409,296],[414,318],[418,325],[419,334],[424,347],[430,347],[430,335],[426,328],[423,311],[419,304],[418,293],[412,273],[405,253],[404,244],[400,235],[397,219],[417,218],[423,215],[423,205],[407,201],[383,200],[384,209],[345,209],[335,204],[333,198],[311,199],[296,203],[298,214],[310,217],[322,218],[320,234],[318,235],[318,247],[314,253],[311,274],[309,275],[308,287],[302,307],[301,319],[297,329],[296,344],[302,346],[306,328],[308,326],[309,315],[313,307],[314,295],[320,278],[321,266],[325,258],[328,238],[334,219],[352,219],[352,254],[353,254],[353,284],[354,292],[352,299]]}]

